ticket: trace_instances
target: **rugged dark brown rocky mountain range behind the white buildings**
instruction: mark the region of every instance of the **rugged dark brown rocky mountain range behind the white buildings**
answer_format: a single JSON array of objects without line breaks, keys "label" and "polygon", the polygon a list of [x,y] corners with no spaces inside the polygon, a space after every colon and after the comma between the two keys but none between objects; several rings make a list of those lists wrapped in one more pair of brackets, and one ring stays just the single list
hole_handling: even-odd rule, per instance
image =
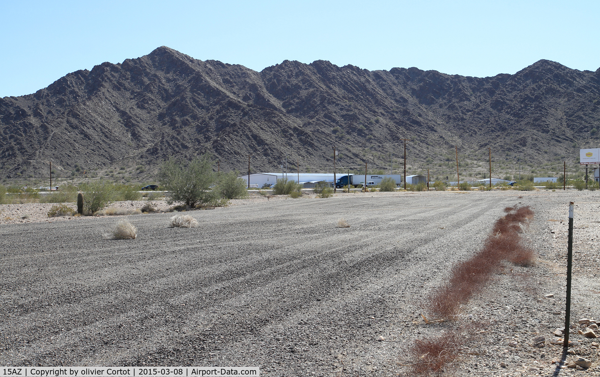
[{"label": "rugged dark brown rocky mountain range behind the white buildings", "polygon": [[[0,98],[0,174],[133,166],[212,152],[220,168],[279,170],[287,157],[389,167],[407,144],[413,166],[454,158],[543,164],[598,146],[600,68],[540,60],[515,74],[465,77],[328,61],[257,72],[159,47]],[[401,161],[400,161],[401,163]]]}]

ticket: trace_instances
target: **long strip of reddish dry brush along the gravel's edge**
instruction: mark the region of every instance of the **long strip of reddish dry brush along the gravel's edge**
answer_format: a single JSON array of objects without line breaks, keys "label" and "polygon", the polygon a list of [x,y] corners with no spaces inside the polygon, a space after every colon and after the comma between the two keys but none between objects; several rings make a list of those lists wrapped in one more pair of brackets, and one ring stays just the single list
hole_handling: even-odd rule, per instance
[{"label": "long strip of reddish dry brush along the gravel's edge", "polygon": [[523,246],[522,226],[528,226],[533,211],[527,207],[506,207],[506,215],[494,223],[480,252],[455,265],[448,283],[435,289],[427,307],[440,318],[453,319],[461,304],[490,281],[502,267],[502,261],[520,266],[533,264],[533,250]]}]

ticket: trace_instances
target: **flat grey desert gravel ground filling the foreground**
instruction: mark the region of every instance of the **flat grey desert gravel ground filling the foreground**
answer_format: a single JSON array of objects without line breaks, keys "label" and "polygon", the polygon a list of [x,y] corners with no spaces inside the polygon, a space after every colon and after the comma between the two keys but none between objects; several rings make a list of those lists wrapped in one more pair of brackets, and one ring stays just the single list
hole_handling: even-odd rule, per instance
[{"label": "flat grey desert gravel ground filling the foreground", "polygon": [[[121,216],[3,224],[0,364],[395,376],[409,371],[399,364],[409,362],[414,339],[478,321],[487,325],[469,347],[482,355],[465,354],[458,375],[598,375],[593,339],[572,338],[594,361],[586,371],[557,369],[559,346],[529,342],[563,326],[569,201],[578,205],[572,318],[600,318],[598,198],[577,191],[256,196],[189,211],[198,228],[169,228],[171,213],[128,216],[136,240],[101,237]],[[424,324],[428,292],[481,248],[503,208],[515,204],[536,212],[524,234],[535,267],[507,265],[458,322]],[[336,228],[340,217],[350,228]]]}]

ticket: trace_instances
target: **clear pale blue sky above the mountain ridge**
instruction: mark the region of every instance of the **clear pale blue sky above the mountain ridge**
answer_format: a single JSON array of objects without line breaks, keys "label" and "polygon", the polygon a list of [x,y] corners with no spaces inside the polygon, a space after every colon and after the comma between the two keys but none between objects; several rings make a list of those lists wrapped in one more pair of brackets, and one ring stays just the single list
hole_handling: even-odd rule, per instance
[{"label": "clear pale blue sky above the mountain ridge", "polygon": [[169,46],[260,71],[285,59],[464,76],[600,67],[598,1],[0,0],[0,97]]}]

